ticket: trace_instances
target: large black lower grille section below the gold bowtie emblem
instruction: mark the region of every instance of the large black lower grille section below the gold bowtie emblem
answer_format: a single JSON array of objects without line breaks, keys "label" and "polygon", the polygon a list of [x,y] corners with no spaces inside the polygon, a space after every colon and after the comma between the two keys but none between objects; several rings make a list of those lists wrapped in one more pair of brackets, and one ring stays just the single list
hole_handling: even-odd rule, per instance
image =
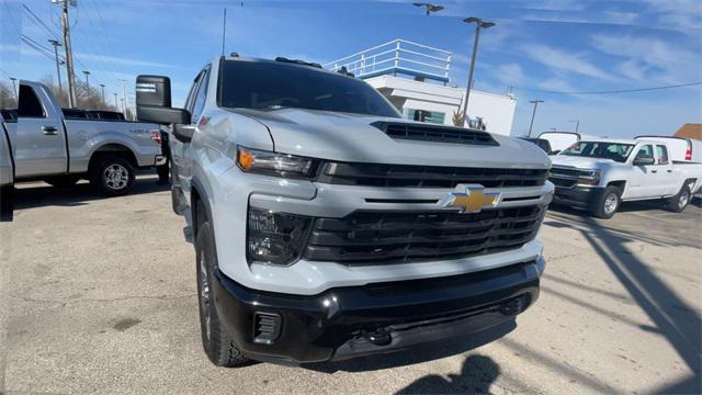
[{"label": "large black lower grille section below the gold bowtie emblem", "polygon": [[541,206],[463,214],[360,211],[316,218],[304,258],[344,264],[456,259],[520,248],[536,236]]}]

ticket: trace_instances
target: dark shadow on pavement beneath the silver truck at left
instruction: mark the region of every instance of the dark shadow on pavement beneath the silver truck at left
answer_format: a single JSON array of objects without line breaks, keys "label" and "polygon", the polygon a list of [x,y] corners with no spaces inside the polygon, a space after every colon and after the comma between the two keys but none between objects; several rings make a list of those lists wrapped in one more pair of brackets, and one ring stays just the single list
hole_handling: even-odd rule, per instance
[{"label": "dark shadow on pavement beneath the silver truck at left", "polygon": [[[137,177],[131,195],[169,191],[168,184],[159,184],[156,176]],[[80,206],[87,202],[109,199],[97,192],[88,182],[56,188],[47,183],[19,184],[14,194],[14,210],[45,206]],[[18,213],[15,213],[16,215]]]}]

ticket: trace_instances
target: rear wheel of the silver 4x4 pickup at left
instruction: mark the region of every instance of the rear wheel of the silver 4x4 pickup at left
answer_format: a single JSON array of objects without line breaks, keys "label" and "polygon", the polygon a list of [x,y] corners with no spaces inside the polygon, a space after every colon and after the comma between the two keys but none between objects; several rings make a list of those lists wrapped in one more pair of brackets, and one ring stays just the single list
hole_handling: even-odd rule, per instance
[{"label": "rear wheel of the silver 4x4 pickup at left", "polygon": [[104,155],[90,169],[90,183],[105,196],[122,196],[134,187],[134,167],[124,157]]}]

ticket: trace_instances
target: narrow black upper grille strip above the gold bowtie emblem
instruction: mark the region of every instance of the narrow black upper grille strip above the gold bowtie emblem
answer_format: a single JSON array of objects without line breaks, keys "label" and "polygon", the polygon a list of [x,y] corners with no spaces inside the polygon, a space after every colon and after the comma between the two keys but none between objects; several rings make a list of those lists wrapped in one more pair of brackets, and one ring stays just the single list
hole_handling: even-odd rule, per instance
[{"label": "narrow black upper grille strip above the gold bowtie emblem", "polygon": [[545,169],[456,168],[442,166],[330,162],[317,181],[343,185],[383,188],[455,188],[480,184],[485,188],[541,187]]}]

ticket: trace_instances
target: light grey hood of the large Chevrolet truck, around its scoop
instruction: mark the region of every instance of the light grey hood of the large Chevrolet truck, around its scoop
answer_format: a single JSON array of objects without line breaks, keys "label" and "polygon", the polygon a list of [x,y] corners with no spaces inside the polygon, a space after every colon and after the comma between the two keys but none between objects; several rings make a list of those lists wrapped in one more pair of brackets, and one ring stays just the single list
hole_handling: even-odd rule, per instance
[{"label": "light grey hood of the large Chevrolet truck, around its scoop", "polygon": [[302,109],[228,111],[264,124],[275,151],[291,155],[350,162],[451,167],[545,169],[551,163],[535,145],[505,136],[492,135],[499,146],[416,142],[393,139],[371,125],[376,121],[415,123],[401,119]]}]

